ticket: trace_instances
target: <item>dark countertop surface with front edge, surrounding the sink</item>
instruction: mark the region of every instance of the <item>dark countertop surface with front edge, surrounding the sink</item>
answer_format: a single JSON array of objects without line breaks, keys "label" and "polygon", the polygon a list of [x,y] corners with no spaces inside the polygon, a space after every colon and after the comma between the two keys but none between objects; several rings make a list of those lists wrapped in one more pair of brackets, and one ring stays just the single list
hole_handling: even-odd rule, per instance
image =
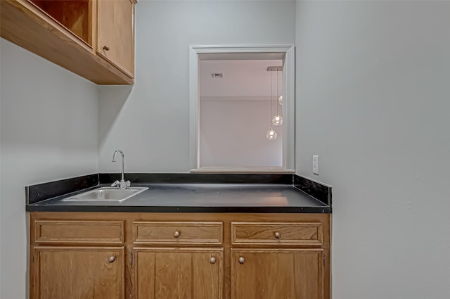
[{"label": "dark countertop surface with front edge, surrounding the sink", "polygon": [[75,193],[27,204],[46,212],[262,212],[330,213],[329,205],[292,184],[132,184],[149,189],[122,202],[61,201]]}]

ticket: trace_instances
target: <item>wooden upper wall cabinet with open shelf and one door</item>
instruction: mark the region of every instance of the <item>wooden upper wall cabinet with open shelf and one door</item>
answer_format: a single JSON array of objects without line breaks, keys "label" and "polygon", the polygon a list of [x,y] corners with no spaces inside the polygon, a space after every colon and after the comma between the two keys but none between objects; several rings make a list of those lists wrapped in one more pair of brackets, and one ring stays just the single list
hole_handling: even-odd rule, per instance
[{"label": "wooden upper wall cabinet with open shelf and one door", "polygon": [[136,0],[1,0],[1,37],[96,84],[134,83]]}]

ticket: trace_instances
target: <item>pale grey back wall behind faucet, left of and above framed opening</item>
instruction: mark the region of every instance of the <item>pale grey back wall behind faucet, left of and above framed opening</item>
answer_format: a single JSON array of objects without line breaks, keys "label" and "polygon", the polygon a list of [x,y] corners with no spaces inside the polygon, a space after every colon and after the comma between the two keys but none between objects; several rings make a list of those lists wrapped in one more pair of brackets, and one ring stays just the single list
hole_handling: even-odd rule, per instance
[{"label": "pale grey back wall behind faucet, left of and above framed opening", "polygon": [[101,172],[117,148],[127,172],[188,172],[190,45],[294,42],[294,1],[139,1],[134,87],[100,91]]}]

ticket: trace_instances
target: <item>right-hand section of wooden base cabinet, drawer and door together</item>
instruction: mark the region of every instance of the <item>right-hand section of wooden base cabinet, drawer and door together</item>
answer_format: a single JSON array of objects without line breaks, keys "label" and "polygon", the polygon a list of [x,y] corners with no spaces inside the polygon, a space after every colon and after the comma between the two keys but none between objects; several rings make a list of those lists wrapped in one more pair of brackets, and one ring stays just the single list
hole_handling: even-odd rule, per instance
[{"label": "right-hand section of wooden base cabinet, drawer and door together", "polygon": [[231,244],[231,299],[323,299],[323,222],[231,222]]}]

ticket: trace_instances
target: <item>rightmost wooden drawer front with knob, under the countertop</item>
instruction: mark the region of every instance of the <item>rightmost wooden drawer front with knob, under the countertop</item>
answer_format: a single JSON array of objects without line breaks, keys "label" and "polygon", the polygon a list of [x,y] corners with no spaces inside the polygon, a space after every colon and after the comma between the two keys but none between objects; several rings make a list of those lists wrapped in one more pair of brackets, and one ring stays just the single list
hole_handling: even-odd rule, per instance
[{"label": "rightmost wooden drawer front with knob, under the countertop", "polygon": [[233,245],[314,245],[323,242],[319,222],[231,222]]}]

